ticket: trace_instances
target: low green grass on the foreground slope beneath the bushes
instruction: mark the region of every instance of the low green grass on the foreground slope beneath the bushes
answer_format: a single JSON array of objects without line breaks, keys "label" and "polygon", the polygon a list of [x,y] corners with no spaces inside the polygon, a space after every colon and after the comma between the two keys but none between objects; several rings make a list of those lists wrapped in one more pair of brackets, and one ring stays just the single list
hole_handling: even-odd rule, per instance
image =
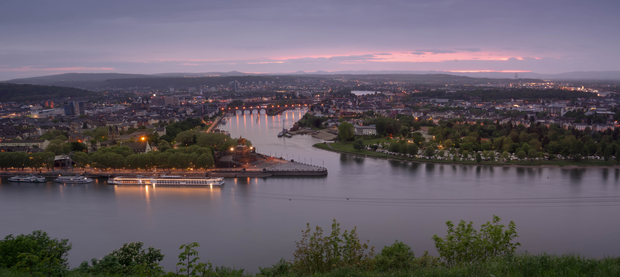
[{"label": "low green grass on the foreground slope beneath the bushes", "polygon": [[[171,270],[171,269],[169,269]],[[255,268],[247,269],[257,271]],[[246,271],[247,272],[247,271]],[[30,277],[29,274],[0,268],[0,276],[7,277]],[[69,271],[65,277],[99,277],[99,276],[131,276],[131,275],[92,275]],[[143,275],[145,276],[145,275]],[[175,276],[170,274],[170,276]],[[181,275],[184,276],[184,275]],[[187,276],[187,275],[185,275]],[[213,274],[212,277],[233,277],[231,275]],[[234,277],[238,277],[235,275]],[[335,268],[328,273],[315,273],[312,275],[299,275],[288,272],[279,275],[259,275],[257,273],[244,273],[244,276],[265,277],[580,277],[580,276],[620,276],[620,258],[601,257],[583,258],[578,255],[548,255],[548,254],[520,254],[513,258],[497,258],[484,262],[465,263],[446,268],[414,267],[404,270],[378,271],[358,268]]]}]

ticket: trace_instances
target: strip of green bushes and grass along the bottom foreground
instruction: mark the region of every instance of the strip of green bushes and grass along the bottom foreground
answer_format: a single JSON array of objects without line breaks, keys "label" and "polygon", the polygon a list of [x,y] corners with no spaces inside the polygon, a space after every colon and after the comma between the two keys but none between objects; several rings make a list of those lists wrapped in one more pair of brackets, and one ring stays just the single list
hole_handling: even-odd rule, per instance
[{"label": "strip of green bushes and grass along the bottom foreground", "polygon": [[[516,224],[505,226],[494,216],[480,226],[461,221],[457,228],[448,221],[448,235],[442,239],[433,236],[440,257],[425,251],[415,257],[411,247],[396,241],[385,246],[374,256],[374,247],[362,243],[356,228],[340,231],[334,219],[329,236],[323,236],[319,226],[302,231],[296,242],[294,260],[270,267],[259,267],[259,272],[246,273],[243,269],[200,262],[198,242],[184,244],[177,263],[177,271],[166,271],[159,266],[164,258],[159,249],[143,249],[142,242],[123,244],[101,260],[82,262],[69,270],[66,252],[71,244],[66,240],[50,239],[45,232],[29,235],[9,235],[0,241],[0,276],[11,277],[110,277],[110,276],[203,276],[203,277],[411,277],[411,276],[620,276],[620,258],[584,258],[578,255],[516,254],[513,243],[517,237]],[[369,241],[366,241],[369,242]]]}]

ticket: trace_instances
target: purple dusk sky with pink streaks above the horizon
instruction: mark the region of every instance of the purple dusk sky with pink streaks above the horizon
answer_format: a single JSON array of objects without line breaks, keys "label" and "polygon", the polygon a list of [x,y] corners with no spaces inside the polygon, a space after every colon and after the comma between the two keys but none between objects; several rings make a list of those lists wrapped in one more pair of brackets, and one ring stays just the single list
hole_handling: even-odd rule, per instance
[{"label": "purple dusk sky with pink streaks above the horizon", "polygon": [[620,70],[620,1],[7,1],[0,80],[67,72]]}]

